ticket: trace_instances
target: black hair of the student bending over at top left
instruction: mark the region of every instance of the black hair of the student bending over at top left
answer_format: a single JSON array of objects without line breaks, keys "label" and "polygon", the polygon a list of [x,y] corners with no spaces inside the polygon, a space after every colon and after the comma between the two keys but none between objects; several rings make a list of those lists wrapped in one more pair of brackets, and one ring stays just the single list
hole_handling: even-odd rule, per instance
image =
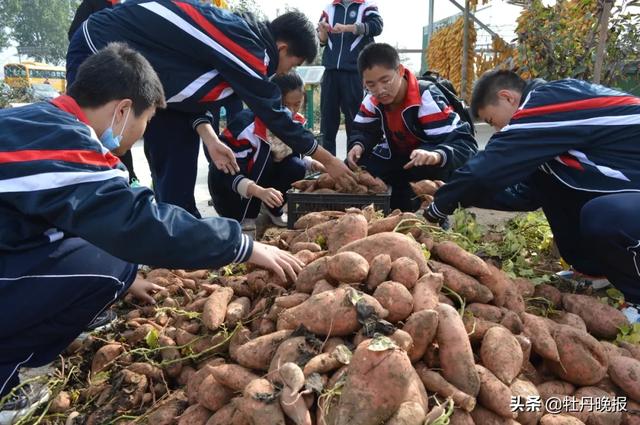
[{"label": "black hair of the student bending over at top left", "polygon": [[287,43],[291,56],[311,63],[318,55],[316,30],[311,21],[298,10],[292,10],[271,21],[271,32],[276,41]]}]

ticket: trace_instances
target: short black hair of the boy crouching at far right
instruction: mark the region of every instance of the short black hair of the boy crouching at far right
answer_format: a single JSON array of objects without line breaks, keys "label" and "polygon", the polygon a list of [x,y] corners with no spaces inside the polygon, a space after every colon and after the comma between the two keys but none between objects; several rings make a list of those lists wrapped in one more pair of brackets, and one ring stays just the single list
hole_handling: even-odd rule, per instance
[{"label": "short black hair of the boy crouching at far right", "polygon": [[518,74],[507,69],[487,71],[478,79],[471,94],[471,113],[478,118],[478,111],[487,105],[494,105],[500,90],[514,90],[522,93],[527,82]]}]

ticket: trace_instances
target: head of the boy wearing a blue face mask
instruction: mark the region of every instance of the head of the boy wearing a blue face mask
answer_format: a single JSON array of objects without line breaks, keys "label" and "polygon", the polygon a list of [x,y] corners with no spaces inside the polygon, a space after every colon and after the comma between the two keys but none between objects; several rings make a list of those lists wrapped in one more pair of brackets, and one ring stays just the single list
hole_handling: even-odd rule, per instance
[{"label": "head of the boy wearing a blue face mask", "polygon": [[67,90],[98,137],[109,128],[122,134],[123,154],[142,137],[156,108],[166,106],[164,90],[151,64],[122,43],[111,43],[85,60]]}]

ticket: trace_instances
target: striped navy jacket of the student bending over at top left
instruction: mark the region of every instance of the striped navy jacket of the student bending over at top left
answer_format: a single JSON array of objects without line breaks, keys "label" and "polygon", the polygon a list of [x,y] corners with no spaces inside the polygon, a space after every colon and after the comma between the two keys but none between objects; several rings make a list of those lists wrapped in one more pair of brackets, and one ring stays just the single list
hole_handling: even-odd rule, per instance
[{"label": "striped navy jacket of the student bending over at top left", "polygon": [[191,0],[128,0],[91,15],[82,31],[94,53],[116,41],[142,53],[162,81],[168,108],[192,113],[194,129],[235,93],[294,151],[312,155],[318,147],[281,106],[269,81],[278,67],[275,40],[269,24],[250,14]]}]

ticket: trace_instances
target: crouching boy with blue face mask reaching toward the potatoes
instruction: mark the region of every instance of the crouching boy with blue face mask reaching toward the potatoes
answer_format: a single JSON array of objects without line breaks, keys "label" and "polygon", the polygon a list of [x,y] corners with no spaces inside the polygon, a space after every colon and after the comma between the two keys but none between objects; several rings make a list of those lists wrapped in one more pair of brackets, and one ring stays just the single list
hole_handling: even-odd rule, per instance
[{"label": "crouching boy with blue face mask reaching toward the potatoes", "polygon": [[[126,291],[153,302],[159,287],[136,279],[138,263],[249,261],[292,279],[300,270],[234,220],[198,220],[129,186],[111,152],[129,149],[164,105],[149,62],[111,44],[80,67],[68,95],[0,110],[0,398],[19,384],[20,367],[53,361]],[[45,395],[15,391],[0,423]]]}]

